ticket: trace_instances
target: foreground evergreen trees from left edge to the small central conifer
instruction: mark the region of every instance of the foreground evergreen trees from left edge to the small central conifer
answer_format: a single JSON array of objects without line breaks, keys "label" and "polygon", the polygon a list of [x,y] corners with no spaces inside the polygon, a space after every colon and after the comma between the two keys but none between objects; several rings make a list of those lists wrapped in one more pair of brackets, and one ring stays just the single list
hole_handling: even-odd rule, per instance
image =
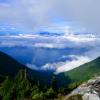
[{"label": "foreground evergreen trees from left edge to the small central conifer", "polygon": [[[52,86],[43,87],[40,82],[33,84],[27,71],[20,70],[14,79],[6,77],[0,85],[0,97],[2,100],[46,100],[57,97],[57,81],[53,78]],[[53,87],[53,88],[52,88]]]}]

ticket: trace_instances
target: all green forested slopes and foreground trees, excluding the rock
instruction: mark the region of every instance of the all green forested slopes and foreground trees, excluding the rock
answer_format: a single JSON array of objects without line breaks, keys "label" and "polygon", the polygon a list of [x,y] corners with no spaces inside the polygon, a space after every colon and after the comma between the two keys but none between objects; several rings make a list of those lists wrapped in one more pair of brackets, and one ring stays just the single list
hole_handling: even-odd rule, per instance
[{"label": "all green forested slopes and foreground trees, excluding the rock", "polygon": [[[45,75],[24,69],[23,65],[1,52],[0,61],[0,100],[53,100],[57,97],[60,100],[83,81],[100,74],[100,58],[53,78],[51,73]],[[5,78],[7,75],[9,77]],[[59,87],[60,80],[66,87]],[[74,97],[82,100],[81,95],[74,95],[68,100],[74,100]]]}]

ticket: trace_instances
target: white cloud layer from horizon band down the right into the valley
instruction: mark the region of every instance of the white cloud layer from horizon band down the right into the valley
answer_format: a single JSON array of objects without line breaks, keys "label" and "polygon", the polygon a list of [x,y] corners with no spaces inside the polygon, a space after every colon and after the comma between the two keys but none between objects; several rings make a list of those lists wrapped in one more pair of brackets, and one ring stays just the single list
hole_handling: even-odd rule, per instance
[{"label": "white cloud layer from horizon band down the right into the valley", "polygon": [[[0,36],[0,47],[31,47],[31,48],[49,48],[49,49],[66,49],[72,48],[76,51],[80,48],[88,49],[83,54],[70,54],[67,57],[71,60],[46,63],[41,68],[36,65],[27,64],[31,69],[36,70],[54,70],[55,73],[76,68],[100,56],[100,38],[93,34],[63,34],[63,35],[40,35],[40,34],[19,34]],[[66,58],[66,55],[62,55]]]}]

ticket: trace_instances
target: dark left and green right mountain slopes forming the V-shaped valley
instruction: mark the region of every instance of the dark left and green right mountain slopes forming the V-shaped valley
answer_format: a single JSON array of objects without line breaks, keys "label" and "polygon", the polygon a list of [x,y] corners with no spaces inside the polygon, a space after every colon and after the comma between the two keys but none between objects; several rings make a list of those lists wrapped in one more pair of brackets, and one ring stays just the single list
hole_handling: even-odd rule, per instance
[{"label": "dark left and green right mountain slopes forming the V-shaped valley", "polygon": [[[34,80],[40,81],[41,83],[45,84],[49,83],[52,77],[54,76],[54,74],[51,72],[31,70],[23,64],[20,64],[19,62],[14,60],[9,55],[0,52],[0,75],[14,76],[16,73],[18,73],[20,69],[26,69],[29,75]],[[55,76],[57,77],[59,84],[63,86],[72,82],[84,82],[96,75],[100,75],[100,57],[89,63],[83,64],[73,70],[60,73]]]}]

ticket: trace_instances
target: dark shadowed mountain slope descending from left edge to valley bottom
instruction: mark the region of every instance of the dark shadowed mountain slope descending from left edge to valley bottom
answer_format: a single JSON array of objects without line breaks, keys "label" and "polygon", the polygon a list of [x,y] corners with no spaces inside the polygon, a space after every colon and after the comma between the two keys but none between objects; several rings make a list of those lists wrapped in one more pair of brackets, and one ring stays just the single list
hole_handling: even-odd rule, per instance
[{"label": "dark shadowed mountain slope descending from left edge to valley bottom", "polygon": [[17,62],[9,55],[0,51],[0,76],[14,77],[21,69],[26,69],[28,75],[30,75],[33,80],[40,81],[41,84],[49,83],[53,76],[53,73],[44,73],[36,70],[31,70],[23,64]]}]

